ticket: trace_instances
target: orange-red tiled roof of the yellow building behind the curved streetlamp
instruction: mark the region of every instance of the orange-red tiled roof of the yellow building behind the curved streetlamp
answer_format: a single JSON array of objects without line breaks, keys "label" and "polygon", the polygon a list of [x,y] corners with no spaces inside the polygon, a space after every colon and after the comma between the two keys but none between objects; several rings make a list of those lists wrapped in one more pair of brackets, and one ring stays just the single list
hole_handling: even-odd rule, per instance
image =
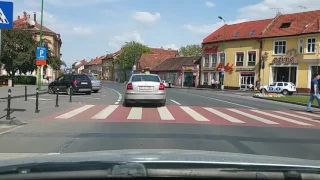
[{"label": "orange-red tiled roof of the yellow building behind the curved streetlamp", "polygon": [[223,25],[222,27],[211,33],[209,36],[204,38],[202,44],[221,42],[224,39],[226,41],[230,41],[238,39],[260,38],[262,31],[272,22],[272,20],[273,19],[264,19]]}]

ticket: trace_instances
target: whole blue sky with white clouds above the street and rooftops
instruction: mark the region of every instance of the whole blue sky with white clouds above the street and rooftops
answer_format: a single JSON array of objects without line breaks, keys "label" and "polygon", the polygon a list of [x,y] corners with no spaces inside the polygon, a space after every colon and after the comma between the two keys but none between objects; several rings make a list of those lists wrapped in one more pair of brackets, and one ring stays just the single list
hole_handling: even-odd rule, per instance
[{"label": "whole blue sky with white clouds above the street and rooftops", "polygon": [[[10,0],[6,0],[10,1]],[[14,19],[41,17],[41,0],[11,0]],[[279,8],[279,9],[277,9]],[[62,60],[72,63],[113,53],[125,42],[179,49],[223,25],[320,9],[320,0],[44,0],[43,25],[61,34]]]}]

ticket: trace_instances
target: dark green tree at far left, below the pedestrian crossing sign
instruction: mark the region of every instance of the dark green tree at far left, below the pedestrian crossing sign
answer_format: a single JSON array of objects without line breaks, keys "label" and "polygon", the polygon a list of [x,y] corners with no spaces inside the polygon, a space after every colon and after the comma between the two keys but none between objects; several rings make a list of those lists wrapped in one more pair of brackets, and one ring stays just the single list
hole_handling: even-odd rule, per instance
[{"label": "dark green tree at far left, below the pedestrian crossing sign", "polygon": [[38,42],[31,31],[3,29],[0,61],[9,76],[35,70],[35,53]]}]

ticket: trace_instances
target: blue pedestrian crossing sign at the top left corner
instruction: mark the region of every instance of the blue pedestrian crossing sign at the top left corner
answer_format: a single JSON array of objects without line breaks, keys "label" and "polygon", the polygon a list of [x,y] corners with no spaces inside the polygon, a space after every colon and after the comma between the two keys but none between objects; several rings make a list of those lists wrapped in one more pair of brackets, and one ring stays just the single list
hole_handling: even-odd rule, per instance
[{"label": "blue pedestrian crossing sign at the top left corner", "polygon": [[0,1],[0,29],[13,28],[13,2]]}]

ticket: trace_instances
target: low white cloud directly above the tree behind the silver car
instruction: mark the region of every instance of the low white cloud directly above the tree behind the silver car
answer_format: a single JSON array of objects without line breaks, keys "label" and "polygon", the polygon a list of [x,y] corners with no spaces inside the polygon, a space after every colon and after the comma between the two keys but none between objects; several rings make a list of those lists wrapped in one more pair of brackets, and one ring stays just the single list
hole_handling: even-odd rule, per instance
[{"label": "low white cloud directly above the tree behind the silver car", "polygon": [[133,32],[125,32],[120,35],[113,36],[111,42],[109,42],[108,45],[115,49],[119,49],[126,42],[130,42],[130,41],[144,43],[144,40],[141,38],[141,35],[137,31],[133,31]]}]

